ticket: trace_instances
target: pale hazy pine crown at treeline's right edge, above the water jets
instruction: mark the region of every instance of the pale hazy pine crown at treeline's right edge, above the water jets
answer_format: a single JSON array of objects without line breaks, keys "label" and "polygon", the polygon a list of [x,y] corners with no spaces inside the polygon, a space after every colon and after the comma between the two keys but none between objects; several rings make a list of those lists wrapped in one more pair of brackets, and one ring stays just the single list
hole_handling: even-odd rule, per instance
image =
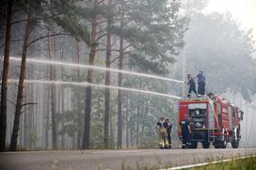
[{"label": "pale hazy pine crown at treeline's right edge, above the water jets", "polygon": [[[184,46],[185,19],[177,1],[127,1],[120,3],[116,13],[120,21],[108,28],[121,36],[131,47],[127,50],[130,66],[168,74],[173,56]],[[116,15],[117,15],[116,14]]]}]

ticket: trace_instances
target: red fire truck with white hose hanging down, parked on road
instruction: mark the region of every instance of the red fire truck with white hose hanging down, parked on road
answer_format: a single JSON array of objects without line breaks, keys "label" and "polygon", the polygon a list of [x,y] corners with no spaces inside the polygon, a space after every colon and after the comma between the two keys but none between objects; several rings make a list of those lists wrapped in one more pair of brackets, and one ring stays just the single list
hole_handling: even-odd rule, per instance
[{"label": "red fire truck with white hose hanging down, parked on road", "polygon": [[239,147],[240,121],[243,112],[229,100],[213,94],[196,99],[180,101],[178,111],[178,135],[183,140],[180,122],[189,119],[191,128],[191,147],[209,148],[212,143],[216,148],[226,148],[230,142],[233,148]]}]

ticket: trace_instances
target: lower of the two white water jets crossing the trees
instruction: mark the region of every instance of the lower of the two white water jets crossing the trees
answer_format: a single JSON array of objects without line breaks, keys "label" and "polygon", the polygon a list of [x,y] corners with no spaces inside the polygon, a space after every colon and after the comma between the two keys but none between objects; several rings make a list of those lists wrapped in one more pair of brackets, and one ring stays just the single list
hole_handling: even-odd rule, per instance
[{"label": "lower of the two white water jets crossing the trees", "polygon": [[[15,79],[8,79],[9,83],[18,83],[19,80]],[[114,86],[114,85],[97,85],[97,84],[90,84],[88,82],[63,82],[63,81],[46,81],[46,80],[24,80],[25,84],[48,84],[48,85],[76,85],[76,86],[92,86],[96,88],[109,88],[109,89],[120,89],[124,91],[132,91],[132,92],[138,92],[138,93],[144,93],[144,94],[150,94],[154,96],[161,96],[166,98],[171,98],[175,100],[181,100],[181,97],[168,95],[164,93],[158,93],[154,91],[148,91],[148,90],[139,90],[135,88],[127,88],[122,86]]]}]

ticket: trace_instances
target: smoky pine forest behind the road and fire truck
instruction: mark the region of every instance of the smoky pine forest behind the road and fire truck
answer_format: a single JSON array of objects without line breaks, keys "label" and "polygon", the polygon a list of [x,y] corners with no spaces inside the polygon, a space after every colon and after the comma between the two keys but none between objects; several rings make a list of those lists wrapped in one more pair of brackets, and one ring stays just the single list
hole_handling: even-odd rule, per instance
[{"label": "smoky pine forest behind the road and fire truck", "polygon": [[0,150],[153,148],[160,116],[178,146],[175,97],[199,70],[207,92],[246,110],[243,145],[255,145],[252,29],[229,12],[206,13],[207,3],[1,2]]}]

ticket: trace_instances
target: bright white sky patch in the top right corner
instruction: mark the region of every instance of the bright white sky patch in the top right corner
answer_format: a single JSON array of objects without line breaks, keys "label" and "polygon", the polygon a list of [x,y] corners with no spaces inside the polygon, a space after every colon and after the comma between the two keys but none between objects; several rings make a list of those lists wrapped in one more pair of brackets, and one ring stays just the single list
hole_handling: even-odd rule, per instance
[{"label": "bright white sky patch in the top right corner", "polygon": [[242,28],[252,28],[256,39],[256,0],[209,0],[206,11],[230,11]]}]

